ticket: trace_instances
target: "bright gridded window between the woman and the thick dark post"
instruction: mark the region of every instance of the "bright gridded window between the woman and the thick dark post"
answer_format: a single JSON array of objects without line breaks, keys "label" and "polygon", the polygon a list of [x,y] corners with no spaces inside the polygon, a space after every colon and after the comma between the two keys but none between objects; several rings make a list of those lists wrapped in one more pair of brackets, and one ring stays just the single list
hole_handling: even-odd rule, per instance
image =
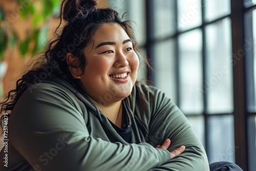
[{"label": "bright gridded window between the woman and the thick dark post", "polygon": [[[187,116],[209,162],[234,162],[230,2],[146,2],[153,13],[147,17],[156,18],[149,20],[155,27],[147,31],[161,33],[147,46],[155,49],[147,54],[154,61],[155,86]],[[158,18],[161,15],[165,17]],[[165,27],[172,24],[175,30],[164,31],[160,22]]]}]

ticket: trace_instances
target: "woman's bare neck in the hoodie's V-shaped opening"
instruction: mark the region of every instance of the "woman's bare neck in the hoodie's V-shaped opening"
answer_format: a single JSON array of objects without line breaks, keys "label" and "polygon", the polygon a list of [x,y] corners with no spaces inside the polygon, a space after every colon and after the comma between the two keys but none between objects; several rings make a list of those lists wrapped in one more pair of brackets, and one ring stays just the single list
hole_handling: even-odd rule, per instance
[{"label": "woman's bare neck in the hoodie's V-shaped opening", "polygon": [[117,101],[108,105],[102,105],[90,98],[97,108],[116,126],[121,127],[122,122],[122,101]]}]

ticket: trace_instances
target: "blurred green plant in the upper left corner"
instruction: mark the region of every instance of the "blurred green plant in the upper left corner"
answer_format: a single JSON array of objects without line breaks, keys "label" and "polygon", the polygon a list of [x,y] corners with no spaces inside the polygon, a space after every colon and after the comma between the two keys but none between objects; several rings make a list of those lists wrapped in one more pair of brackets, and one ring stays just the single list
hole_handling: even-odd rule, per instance
[{"label": "blurred green plant in the upper left corner", "polygon": [[[60,0],[17,0],[17,9],[12,9],[11,17],[5,16],[0,6],[0,61],[3,60],[7,48],[19,47],[22,57],[25,54],[35,54],[45,49],[48,37],[49,19],[59,14]],[[11,28],[17,19],[29,18],[32,31],[26,33],[25,39],[20,39]]]}]

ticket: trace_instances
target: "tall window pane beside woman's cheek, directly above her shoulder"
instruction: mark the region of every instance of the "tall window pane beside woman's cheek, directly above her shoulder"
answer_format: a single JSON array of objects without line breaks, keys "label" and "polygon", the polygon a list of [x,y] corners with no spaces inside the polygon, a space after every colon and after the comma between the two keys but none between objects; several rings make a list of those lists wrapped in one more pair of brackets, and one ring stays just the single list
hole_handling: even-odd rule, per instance
[{"label": "tall window pane beside woman's cheek, directly above her shoulder", "polygon": [[161,89],[175,103],[176,99],[176,60],[175,40],[170,39],[156,45],[154,60],[155,86]]}]

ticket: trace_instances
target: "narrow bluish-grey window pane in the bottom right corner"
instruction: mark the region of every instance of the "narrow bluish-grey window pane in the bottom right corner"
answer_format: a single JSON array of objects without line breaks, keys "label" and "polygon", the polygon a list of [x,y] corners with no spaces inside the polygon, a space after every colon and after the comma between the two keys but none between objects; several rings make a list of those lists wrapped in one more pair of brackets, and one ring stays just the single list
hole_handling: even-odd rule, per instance
[{"label": "narrow bluish-grey window pane in the bottom right corner", "polygon": [[256,170],[256,115],[248,117],[248,162],[249,170]]}]

